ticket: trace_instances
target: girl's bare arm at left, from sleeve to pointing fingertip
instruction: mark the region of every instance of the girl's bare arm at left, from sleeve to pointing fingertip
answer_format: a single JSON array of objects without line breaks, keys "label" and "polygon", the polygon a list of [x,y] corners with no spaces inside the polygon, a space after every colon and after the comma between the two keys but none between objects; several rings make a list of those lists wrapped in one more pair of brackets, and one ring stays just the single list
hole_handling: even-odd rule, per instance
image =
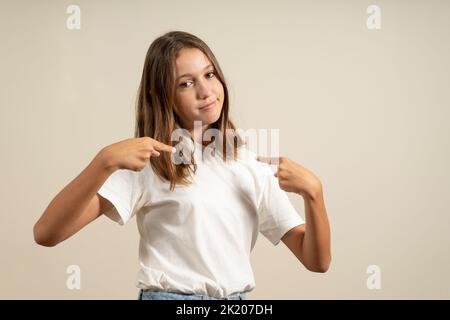
[{"label": "girl's bare arm at left, from sleeve to pointing fingertip", "polygon": [[71,237],[112,208],[97,191],[118,169],[141,171],[158,151],[173,147],[149,137],[131,138],[103,148],[91,163],[45,209],[33,228],[36,243],[52,247]]}]

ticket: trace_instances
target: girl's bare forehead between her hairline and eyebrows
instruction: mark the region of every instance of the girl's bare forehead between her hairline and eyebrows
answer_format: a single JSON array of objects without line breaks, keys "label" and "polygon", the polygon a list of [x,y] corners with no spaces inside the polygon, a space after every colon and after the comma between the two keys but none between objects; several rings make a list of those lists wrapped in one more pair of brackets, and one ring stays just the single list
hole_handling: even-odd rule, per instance
[{"label": "girl's bare forehead between her hairline and eyebrows", "polygon": [[185,73],[196,74],[210,64],[208,57],[197,48],[184,48],[175,60],[175,73],[180,76]]}]

